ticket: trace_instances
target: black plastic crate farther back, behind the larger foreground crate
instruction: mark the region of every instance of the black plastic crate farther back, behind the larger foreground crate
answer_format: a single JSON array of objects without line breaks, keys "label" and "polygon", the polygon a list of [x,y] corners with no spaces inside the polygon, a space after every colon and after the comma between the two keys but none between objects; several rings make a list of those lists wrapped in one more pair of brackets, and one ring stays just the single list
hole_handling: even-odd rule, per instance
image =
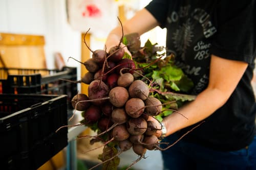
[{"label": "black plastic crate farther back, behind the larger foreground crate", "polygon": [[0,68],[0,93],[7,94],[66,94],[68,109],[77,94],[76,67],[58,69]]}]

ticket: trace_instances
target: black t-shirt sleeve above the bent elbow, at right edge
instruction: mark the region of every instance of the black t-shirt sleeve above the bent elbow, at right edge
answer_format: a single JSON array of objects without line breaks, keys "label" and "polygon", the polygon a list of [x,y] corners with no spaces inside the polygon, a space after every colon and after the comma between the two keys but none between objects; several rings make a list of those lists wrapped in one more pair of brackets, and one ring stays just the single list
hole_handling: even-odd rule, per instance
[{"label": "black t-shirt sleeve above the bent elbow, at right edge", "polygon": [[256,48],[255,1],[222,1],[216,9],[217,33],[210,53],[253,63]]}]

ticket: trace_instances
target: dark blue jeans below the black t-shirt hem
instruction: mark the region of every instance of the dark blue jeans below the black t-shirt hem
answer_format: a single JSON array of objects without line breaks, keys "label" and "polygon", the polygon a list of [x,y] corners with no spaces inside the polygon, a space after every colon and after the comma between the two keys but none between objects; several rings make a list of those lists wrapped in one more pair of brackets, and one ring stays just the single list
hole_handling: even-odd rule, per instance
[{"label": "dark blue jeans below the black t-shirt hem", "polygon": [[[162,142],[172,144],[177,139],[174,134]],[[164,170],[256,170],[256,136],[247,148],[232,152],[215,151],[181,140],[162,151],[162,158]]]}]

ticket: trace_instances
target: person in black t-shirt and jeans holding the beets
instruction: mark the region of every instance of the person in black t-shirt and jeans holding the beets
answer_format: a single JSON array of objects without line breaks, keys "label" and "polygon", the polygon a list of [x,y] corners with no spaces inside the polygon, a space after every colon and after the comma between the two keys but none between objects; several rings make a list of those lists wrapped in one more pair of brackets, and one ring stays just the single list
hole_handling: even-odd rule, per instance
[{"label": "person in black t-shirt and jeans holding the beets", "polygon": [[[165,117],[162,141],[173,143],[200,126],[162,152],[164,169],[256,169],[255,6],[254,0],[153,0],[122,23],[124,34],[166,28],[166,52],[194,82],[197,98],[178,110],[187,119]],[[109,33],[107,49],[119,43],[121,30]]]}]

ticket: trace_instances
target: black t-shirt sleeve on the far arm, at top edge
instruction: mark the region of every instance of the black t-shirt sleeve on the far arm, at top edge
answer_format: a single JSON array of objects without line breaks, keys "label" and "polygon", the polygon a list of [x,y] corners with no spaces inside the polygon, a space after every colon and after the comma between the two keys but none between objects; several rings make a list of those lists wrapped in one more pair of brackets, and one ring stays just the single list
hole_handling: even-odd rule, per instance
[{"label": "black t-shirt sleeve on the far arm, at top edge", "polygon": [[160,23],[161,28],[165,27],[169,2],[169,0],[153,0],[145,7]]}]

